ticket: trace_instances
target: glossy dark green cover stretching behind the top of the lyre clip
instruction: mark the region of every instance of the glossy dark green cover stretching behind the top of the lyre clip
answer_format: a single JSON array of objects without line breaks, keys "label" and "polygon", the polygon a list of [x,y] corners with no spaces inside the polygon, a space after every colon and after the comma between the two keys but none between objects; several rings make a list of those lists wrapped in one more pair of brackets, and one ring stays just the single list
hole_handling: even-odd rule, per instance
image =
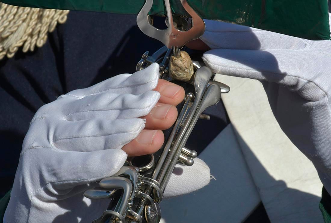
[{"label": "glossy dark green cover stretching behind the top of the lyre clip", "polygon": [[[327,0],[187,0],[204,19],[222,20],[311,40],[330,38]],[[145,0],[3,0],[11,5],[138,14]],[[174,14],[187,15],[179,0]],[[154,0],[151,15],[165,15],[163,0]]]}]

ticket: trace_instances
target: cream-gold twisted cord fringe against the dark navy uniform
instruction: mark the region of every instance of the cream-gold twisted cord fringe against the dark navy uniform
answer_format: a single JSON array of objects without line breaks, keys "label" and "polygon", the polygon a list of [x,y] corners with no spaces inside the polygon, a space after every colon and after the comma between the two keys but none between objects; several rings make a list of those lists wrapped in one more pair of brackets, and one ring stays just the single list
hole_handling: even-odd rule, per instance
[{"label": "cream-gold twisted cord fringe against the dark navy uniform", "polygon": [[69,10],[37,9],[0,3],[0,59],[42,47],[48,32],[67,20]]}]

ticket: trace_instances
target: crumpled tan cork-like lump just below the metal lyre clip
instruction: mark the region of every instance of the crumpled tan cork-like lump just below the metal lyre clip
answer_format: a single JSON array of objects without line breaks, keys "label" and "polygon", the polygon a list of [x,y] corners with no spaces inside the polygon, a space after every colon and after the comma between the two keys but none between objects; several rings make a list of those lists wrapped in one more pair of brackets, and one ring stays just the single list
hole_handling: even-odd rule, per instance
[{"label": "crumpled tan cork-like lump just below the metal lyre clip", "polygon": [[169,74],[172,79],[189,81],[193,73],[193,63],[188,53],[180,51],[179,57],[170,57]]}]

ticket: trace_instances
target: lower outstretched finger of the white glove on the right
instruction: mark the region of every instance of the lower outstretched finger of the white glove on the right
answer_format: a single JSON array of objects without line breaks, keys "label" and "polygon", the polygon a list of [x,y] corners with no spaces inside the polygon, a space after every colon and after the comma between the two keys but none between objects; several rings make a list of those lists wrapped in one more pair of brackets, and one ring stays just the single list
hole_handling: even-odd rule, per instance
[{"label": "lower outstretched finger of the white glove on the right", "polygon": [[203,55],[213,72],[274,82],[317,101],[330,86],[330,58],[309,50],[210,50]]}]

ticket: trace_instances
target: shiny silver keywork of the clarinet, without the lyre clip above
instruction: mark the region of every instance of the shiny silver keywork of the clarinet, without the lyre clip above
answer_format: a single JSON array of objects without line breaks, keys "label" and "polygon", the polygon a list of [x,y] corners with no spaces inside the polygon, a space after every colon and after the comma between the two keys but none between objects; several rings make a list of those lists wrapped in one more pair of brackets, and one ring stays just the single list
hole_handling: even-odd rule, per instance
[{"label": "shiny silver keywork of the clarinet, without the lyre clip above", "polygon": [[[153,62],[160,63],[160,76],[164,79],[168,69],[169,56],[172,49],[161,48],[152,56],[145,52],[137,68],[144,69]],[[185,143],[191,134],[202,112],[220,100],[221,93],[227,93],[230,88],[220,82],[212,81],[212,71],[194,61],[194,93],[187,93],[183,107],[177,117],[173,129],[166,141],[160,157],[150,160],[140,159],[133,162],[128,158],[127,165],[112,177],[100,181],[100,187],[85,191],[84,195],[90,199],[114,200],[114,195],[120,197],[117,203],[112,204],[111,210],[106,210],[94,223],[158,223],[161,219],[159,203],[176,164],[192,166],[197,152],[185,148]],[[143,159],[143,160],[142,160]],[[133,164],[141,165],[134,167]],[[121,193],[119,193],[121,191]]]}]

